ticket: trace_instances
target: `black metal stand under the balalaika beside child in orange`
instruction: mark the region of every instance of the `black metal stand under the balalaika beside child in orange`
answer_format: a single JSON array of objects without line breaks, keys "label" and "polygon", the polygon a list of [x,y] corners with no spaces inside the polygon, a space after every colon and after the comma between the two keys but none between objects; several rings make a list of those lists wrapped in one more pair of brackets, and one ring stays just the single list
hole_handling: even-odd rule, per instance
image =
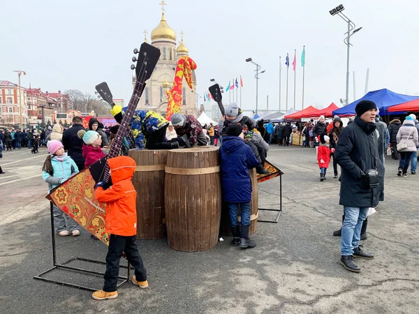
[{"label": "black metal stand under the balalaika beside child in orange", "polygon": [[[106,264],[105,262],[100,262],[100,261],[97,261],[97,260],[88,260],[86,258],[80,258],[80,257],[72,257],[70,260],[68,260],[64,263],[61,263],[61,264],[57,263],[57,256],[56,256],[56,252],[55,252],[54,208],[53,208],[52,202],[50,202],[50,211],[51,211],[52,262],[54,264],[54,267],[52,267],[50,269],[47,269],[46,271],[43,271],[38,276],[34,276],[34,279],[38,279],[38,280],[41,280],[41,281],[47,281],[47,282],[50,282],[50,283],[57,283],[59,285],[66,285],[67,287],[76,287],[76,288],[82,289],[82,290],[89,290],[89,291],[100,290],[100,289],[97,289],[97,288],[85,287],[84,285],[76,285],[74,283],[66,283],[64,281],[55,281],[53,279],[43,277],[43,275],[45,275],[47,273],[50,273],[54,269],[67,269],[67,270],[70,270],[70,271],[78,271],[80,273],[90,274],[90,275],[94,275],[94,276],[103,276],[104,274],[100,273],[98,271],[89,271],[87,269],[82,269],[82,268],[78,268],[78,267],[71,267],[71,266],[68,266],[67,264],[69,262],[73,262],[75,260],[81,260],[82,262],[91,262],[91,263],[94,263],[94,264]],[[127,274],[126,274],[126,277],[118,276],[118,278],[123,279],[123,281],[117,285],[117,288],[119,288],[122,285],[124,285],[125,283],[127,283],[129,278],[131,277],[130,276],[131,266],[130,266],[129,262],[128,262],[127,266],[119,266],[119,267],[127,269]]]}]

